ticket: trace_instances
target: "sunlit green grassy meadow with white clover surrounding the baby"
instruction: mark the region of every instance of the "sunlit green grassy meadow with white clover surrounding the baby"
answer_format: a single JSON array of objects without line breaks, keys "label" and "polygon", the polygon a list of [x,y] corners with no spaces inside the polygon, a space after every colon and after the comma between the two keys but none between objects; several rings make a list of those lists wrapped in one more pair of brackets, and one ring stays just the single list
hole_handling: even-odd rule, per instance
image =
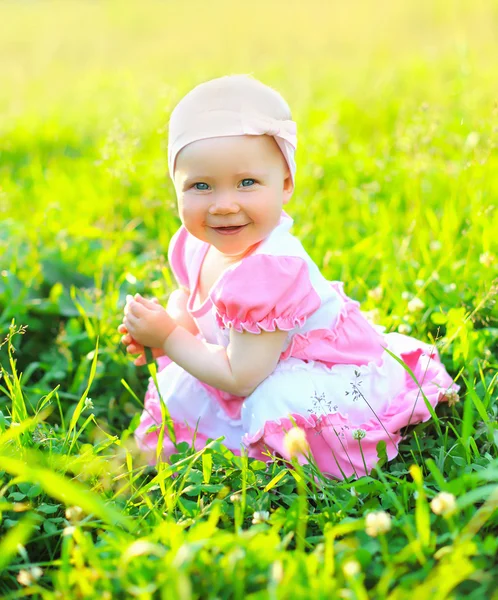
[{"label": "sunlit green grassy meadow with white clover surrounding the baby", "polygon": [[[492,1],[0,1],[2,599],[498,599],[496,31]],[[293,110],[324,275],[461,386],[358,480],[134,445],[117,326],[174,287],[168,116],[228,73]]]}]

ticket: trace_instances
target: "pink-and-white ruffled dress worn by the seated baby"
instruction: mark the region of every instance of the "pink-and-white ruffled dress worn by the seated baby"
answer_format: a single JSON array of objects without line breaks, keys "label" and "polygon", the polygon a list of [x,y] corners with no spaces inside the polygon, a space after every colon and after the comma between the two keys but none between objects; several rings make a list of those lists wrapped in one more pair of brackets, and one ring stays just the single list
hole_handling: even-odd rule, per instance
[{"label": "pink-and-white ruffled dress worn by the seated baby", "polygon": [[[174,423],[177,443],[202,448],[224,436],[235,454],[271,460],[289,458],[284,435],[289,415],[307,437],[314,460],[330,477],[365,474],[378,461],[385,441],[388,459],[398,453],[401,429],[427,421],[432,407],[458,391],[437,350],[400,333],[372,325],[340,281],[327,281],[289,229],[280,224],[257,249],[230,266],[202,304],[196,304],[199,272],[209,245],[181,227],[171,240],[169,263],[178,284],[190,290],[188,311],[209,343],[227,346],[229,329],[255,335],[275,328],[288,332],[273,373],[246,398],[212,388],[168,358],[159,359],[158,385]],[[390,356],[388,348],[415,375]],[[420,391],[420,387],[423,394]],[[152,380],[135,431],[144,451],[157,445],[161,409]],[[175,451],[165,429],[163,458]],[[305,463],[304,457],[300,462]]]}]

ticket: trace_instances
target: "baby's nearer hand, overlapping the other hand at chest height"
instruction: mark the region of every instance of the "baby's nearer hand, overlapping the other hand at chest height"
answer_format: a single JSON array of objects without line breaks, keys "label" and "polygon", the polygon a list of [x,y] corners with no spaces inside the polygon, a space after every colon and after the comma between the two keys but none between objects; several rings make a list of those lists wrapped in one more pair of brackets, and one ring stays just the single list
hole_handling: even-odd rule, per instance
[{"label": "baby's nearer hand, overlapping the other hand at chest height", "polygon": [[177,327],[175,321],[157,302],[135,294],[125,307],[123,325],[133,341],[150,348],[161,348]]}]

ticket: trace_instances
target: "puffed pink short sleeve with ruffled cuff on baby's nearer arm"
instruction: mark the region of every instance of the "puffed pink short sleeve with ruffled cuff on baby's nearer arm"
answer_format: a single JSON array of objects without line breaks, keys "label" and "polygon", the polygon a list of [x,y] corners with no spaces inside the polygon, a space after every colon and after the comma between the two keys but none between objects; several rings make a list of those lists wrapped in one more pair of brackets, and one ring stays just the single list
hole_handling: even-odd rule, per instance
[{"label": "puffed pink short sleeve with ruffled cuff on baby's nearer arm", "polygon": [[210,297],[218,325],[250,333],[302,327],[320,306],[308,265],[295,256],[249,256],[223,273]]}]

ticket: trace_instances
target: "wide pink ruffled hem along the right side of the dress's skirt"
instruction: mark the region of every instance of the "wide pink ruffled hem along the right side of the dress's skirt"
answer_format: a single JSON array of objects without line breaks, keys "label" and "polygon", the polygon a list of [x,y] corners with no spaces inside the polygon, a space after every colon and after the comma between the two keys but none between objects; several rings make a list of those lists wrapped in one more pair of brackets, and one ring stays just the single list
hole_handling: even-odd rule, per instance
[{"label": "wide pink ruffled hem along the right side of the dress's skirt", "polygon": [[[422,364],[423,354],[423,349],[419,348],[402,353],[401,358],[417,381],[423,382],[423,394],[431,407],[435,408],[438,402],[446,401],[449,390],[458,391],[460,387],[453,383],[437,354],[433,355],[428,367]],[[305,432],[313,459],[325,475],[338,479],[351,475],[360,477],[368,474],[377,463],[377,444],[380,441],[386,442],[387,458],[391,460],[398,454],[401,429],[431,418],[423,394],[406,372],[405,388],[393,398],[388,409],[379,414],[378,418],[353,423],[341,413],[307,417],[294,413],[291,416]],[[267,421],[252,435],[245,434],[242,441],[248,448],[249,456],[269,461],[272,459],[263,452],[270,451],[271,454],[278,453],[283,458],[290,459],[284,438],[293,426],[290,418],[284,417]],[[299,462],[306,464],[308,461],[301,456]]]}]

